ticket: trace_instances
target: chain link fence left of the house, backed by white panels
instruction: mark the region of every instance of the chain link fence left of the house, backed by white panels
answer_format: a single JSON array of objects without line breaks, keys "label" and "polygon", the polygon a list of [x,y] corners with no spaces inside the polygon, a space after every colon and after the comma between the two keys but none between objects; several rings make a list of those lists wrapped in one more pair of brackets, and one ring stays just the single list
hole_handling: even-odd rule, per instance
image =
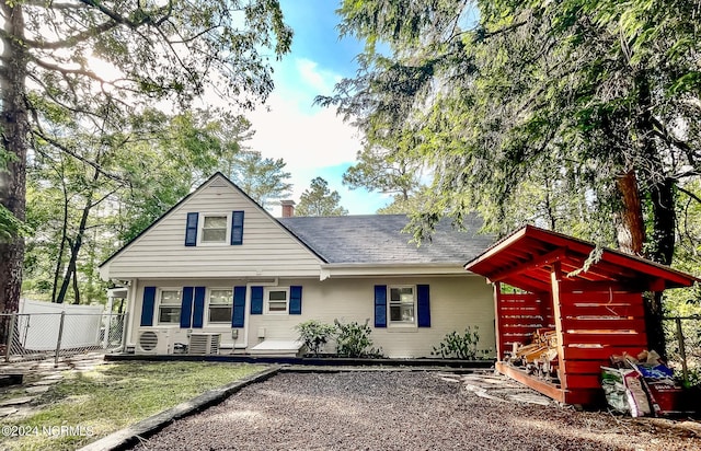
[{"label": "chain link fence left of the house, backed by white panels", "polygon": [[5,362],[118,351],[125,314],[0,313]]}]

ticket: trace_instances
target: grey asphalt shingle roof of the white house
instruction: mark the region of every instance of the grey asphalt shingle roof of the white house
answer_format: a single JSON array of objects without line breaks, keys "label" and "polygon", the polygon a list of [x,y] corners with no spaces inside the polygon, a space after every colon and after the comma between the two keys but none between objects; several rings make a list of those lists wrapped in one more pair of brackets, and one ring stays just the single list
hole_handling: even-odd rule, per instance
[{"label": "grey asphalt shingle roof of the white house", "polygon": [[478,234],[482,220],[469,216],[467,231],[452,228],[444,219],[436,226],[432,241],[417,246],[405,215],[279,218],[283,226],[303,241],[327,263],[354,264],[464,264],[494,243],[494,238]]}]

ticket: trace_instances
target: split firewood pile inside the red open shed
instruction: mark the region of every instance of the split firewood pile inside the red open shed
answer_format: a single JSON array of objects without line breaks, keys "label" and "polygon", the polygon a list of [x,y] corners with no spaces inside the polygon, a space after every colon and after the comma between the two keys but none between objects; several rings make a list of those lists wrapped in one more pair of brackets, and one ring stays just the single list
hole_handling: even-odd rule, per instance
[{"label": "split firewood pile inside the red open shed", "polygon": [[549,382],[558,381],[558,336],[553,328],[539,328],[531,343],[514,343],[509,365],[520,367],[528,374],[538,375]]}]

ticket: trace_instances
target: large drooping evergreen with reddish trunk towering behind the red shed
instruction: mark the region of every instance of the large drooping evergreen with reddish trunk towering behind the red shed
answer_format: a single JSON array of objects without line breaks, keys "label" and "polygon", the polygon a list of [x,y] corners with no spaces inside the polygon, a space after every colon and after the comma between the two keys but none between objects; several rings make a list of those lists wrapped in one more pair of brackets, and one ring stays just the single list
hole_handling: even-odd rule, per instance
[{"label": "large drooping evergreen with reddish trunk towering behind the red shed", "polygon": [[[499,233],[537,218],[571,232],[582,219],[582,235],[669,265],[678,188],[701,170],[696,11],[691,1],[344,1],[341,31],[367,39],[369,62],[333,103],[366,136],[379,120],[392,140],[423,138],[406,149],[435,175],[434,201],[414,215],[420,238],[471,209]],[[404,122],[378,108],[392,92],[412,93]],[[517,204],[529,187],[542,201]],[[659,296],[647,315],[663,350]]]}]

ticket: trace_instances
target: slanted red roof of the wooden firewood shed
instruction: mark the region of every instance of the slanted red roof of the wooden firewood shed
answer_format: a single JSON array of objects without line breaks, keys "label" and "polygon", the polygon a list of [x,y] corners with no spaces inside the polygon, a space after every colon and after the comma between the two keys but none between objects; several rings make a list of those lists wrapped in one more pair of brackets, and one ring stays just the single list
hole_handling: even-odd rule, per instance
[{"label": "slanted red roof of the wooden firewood shed", "polygon": [[[600,252],[593,258],[593,252]],[[662,291],[690,287],[699,278],[645,258],[595,244],[562,233],[526,226],[487,248],[464,265],[464,269],[487,278],[531,291],[551,289],[553,265],[559,264],[563,280],[587,286],[620,285],[633,291]]]}]

